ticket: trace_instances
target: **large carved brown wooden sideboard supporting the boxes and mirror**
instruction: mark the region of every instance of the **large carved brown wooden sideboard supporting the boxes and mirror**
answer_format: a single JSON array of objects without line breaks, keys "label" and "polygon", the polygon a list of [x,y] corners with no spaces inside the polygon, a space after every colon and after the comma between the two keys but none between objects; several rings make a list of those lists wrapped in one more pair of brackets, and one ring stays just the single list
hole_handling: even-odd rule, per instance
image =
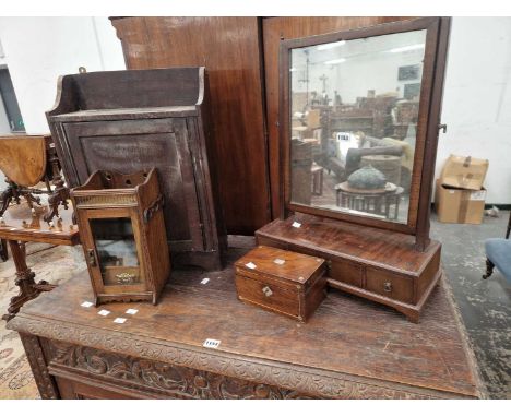
[{"label": "large carved brown wooden sideboard supporting the boxes and mirror", "polygon": [[[221,273],[174,271],[157,307],[114,303],[99,315],[80,306],[93,297],[85,275],[27,303],[8,326],[20,332],[41,397],[482,395],[448,287],[428,300],[420,326],[333,294],[304,325],[236,299],[231,262],[246,251],[230,248]],[[128,308],[139,312],[126,314]],[[114,323],[117,317],[127,321]],[[205,348],[206,338],[221,344]]]}]

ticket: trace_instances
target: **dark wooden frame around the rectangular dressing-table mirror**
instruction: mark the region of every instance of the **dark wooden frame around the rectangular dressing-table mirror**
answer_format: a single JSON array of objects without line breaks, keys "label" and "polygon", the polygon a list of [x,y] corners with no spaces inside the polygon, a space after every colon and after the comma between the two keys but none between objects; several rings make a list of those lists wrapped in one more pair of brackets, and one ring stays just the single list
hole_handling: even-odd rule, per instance
[{"label": "dark wooden frame around the rectangular dressing-table mirror", "polygon": [[[425,250],[429,245],[429,213],[440,126],[444,69],[449,45],[450,17],[420,17],[370,27],[329,33],[304,38],[285,39],[280,48],[280,146],[281,146],[281,218],[293,212],[334,218],[365,226],[416,236],[416,248]],[[416,128],[416,145],[412,172],[408,218],[394,223],[368,216],[359,216],[312,207],[290,201],[290,51],[340,40],[426,29],[419,114]]]}]

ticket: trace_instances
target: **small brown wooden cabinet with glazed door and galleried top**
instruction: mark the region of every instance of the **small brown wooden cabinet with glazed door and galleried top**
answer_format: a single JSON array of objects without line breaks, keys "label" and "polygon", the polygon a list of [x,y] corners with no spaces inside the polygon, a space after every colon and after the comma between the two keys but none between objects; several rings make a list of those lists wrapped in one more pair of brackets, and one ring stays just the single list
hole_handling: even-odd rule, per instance
[{"label": "small brown wooden cabinet with glazed door and galleried top", "polygon": [[170,275],[157,172],[96,171],[71,190],[95,305],[156,303]]}]

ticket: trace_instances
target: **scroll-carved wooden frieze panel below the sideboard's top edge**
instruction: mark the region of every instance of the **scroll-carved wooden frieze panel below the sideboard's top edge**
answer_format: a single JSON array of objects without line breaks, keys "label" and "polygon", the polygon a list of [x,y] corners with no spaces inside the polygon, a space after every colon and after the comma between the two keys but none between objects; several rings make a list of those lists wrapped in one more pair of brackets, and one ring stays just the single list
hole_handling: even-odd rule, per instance
[{"label": "scroll-carved wooden frieze panel below the sideboard's top edge", "polygon": [[[228,378],[85,346],[51,342],[50,373],[86,377],[134,391],[136,396],[180,398],[310,398],[293,390]],[[107,385],[108,386],[108,385]]]}]

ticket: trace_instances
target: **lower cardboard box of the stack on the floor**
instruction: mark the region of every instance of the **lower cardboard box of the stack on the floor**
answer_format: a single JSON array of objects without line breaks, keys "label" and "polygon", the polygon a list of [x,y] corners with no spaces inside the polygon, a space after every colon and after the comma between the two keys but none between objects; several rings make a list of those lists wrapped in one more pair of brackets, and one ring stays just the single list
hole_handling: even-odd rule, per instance
[{"label": "lower cardboard box of the stack on the floor", "polygon": [[485,211],[486,189],[461,190],[440,182],[437,179],[435,208],[439,222],[470,223],[479,225]]}]

